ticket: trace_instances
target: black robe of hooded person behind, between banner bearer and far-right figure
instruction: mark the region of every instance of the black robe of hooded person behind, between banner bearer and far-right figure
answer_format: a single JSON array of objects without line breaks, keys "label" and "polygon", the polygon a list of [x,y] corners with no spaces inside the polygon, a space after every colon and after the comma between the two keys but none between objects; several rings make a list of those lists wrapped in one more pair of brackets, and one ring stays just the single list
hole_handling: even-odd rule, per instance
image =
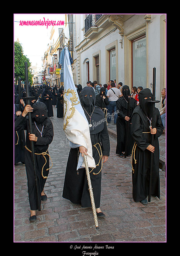
[{"label": "black robe of hooded person behind, between banner bearer and far-right figure", "polygon": [[[127,86],[127,85],[125,85]],[[127,86],[129,88],[129,86]],[[123,92],[123,91],[122,91]],[[116,111],[117,111],[117,121],[116,121],[116,130],[117,130],[117,145],[116,145],[116,154],[122,154],[125,152],[125,145],[126,145],[126,131],[127,131],[127,122],[129,124],[128,128],[128,144],[127,144],[127,155],[131,155],[134,140],[131,136],[131,116],[133,110],[137,106],[137,102],[135,99],[130,98],[130,112],[129,117],[130,120],[126,121],[125,116],[128,113],[128,103],[126,102],[124,97],[120,97],[116,101]]]}]

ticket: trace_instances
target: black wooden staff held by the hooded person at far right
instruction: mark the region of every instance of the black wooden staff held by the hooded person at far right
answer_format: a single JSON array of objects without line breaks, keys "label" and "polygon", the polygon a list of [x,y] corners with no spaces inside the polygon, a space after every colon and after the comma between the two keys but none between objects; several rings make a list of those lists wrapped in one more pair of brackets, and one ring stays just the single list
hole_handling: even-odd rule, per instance
[{"label": "black wooden staff held by the hooded person at far right", "polygon": [[[148,100],[152,103],[152,129],[155,125],[155,103],[160,102],[159,100],[156,100],[156,68],[153,67],[153,98],[152,100]],[[154,135],[151,135],[151,145],[154,146]],[[149,176],[149,196],[148,196],[148,202],[151,202],[151,188],[152,188],[152,170],[153,170],[153,154],[151,152],[151,161],[150,161],[150,176]]]}]

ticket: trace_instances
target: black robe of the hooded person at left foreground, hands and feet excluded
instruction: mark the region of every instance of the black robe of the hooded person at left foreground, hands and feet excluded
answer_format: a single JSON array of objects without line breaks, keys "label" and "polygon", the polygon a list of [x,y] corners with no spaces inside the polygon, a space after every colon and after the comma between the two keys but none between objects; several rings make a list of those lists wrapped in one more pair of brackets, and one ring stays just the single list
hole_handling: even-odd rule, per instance
[{"label": "black robe of the hooded person at left foreground, hands and feet excluded", "polygon": [[[42,103],[42,102],[37,102],[37,103]],[[35,104],[37,104],[35,103]],[[33,107],[35,106],[33,104]],[[43,104],[43,103],[42,103]],[[43,123],[37,123],[37,126],[40,131],[42,131],[43,128],[43,133],[42,137],[39,131],[37,130],[35,123],[32,121],[32,133],[35,134],[38,137],[37,142],[34,142],[34,147],[35,147],[35,153],[42,153],[46,152],[48,150],[49,144],[52,142],[53,139],[53,125],[52,122],[49,118],[46,118]],[[20,130],[27,130],[26,132],[26,147],[31,150],[30,146],[30,140],[28,137],[29,131],[29,117],[23,117],[22,115],[19,116],[15,122],[15,130],[20,131]],[[47,154],[48,151],[47,151]],[[39,189],[39,198],[41,202],[41,192],[44,189],[45,182],[49,174],[49,156],[44,155],[47,162],[45,164],[45,158],[43,155],[36,155],[35,154],[35,161],[36,161],[36,172],[37,172],[37,179],[38,179],[38,189]],[[31,158],[31,153],[25,149],[24,153],[24,162],[26,165],[26,174],[27,174],[27,185],[28,185],[28,195],[29,195],[29,204],[30,204],[30,209],[31,210],[38,210],[38,203],[37,203],[37,193],[36,193],[36,185],[35,185],[35,176],[34,176],[34,169],[33,169],[33,163],[32,163],[32,158]],[[42,176],[42,167],[45,164],[43,168],[43,176]]]}]

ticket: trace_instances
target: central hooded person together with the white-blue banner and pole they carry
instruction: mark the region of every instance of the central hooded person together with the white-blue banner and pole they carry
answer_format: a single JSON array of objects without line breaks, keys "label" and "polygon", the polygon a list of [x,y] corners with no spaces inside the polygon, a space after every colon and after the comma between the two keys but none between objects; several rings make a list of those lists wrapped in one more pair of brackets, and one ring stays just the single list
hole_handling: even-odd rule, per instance
[{"label": "central hooded person together with the white-blue banner and pole they carry", "polygon": [[60,55],[64,70],[63,130],[71,147],[63,197],[82,207],[92,206],[98,229],[97,216],[105,216],[100,210],[102,164],[110,152],[106,119],[103,111],[95,106],[93,88],[84,87],[78,96],[71,67],[73,60],[67,45],[63,47]]}]

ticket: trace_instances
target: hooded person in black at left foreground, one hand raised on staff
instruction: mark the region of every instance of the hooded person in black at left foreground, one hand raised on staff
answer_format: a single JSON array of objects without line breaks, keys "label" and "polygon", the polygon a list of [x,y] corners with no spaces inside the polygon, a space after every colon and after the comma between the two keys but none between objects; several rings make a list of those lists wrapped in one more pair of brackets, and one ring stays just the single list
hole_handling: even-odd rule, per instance
[{"label": "hooded person in black at left foreground, one hand raised on staff", "polygon": [[[30,133],[29,116],[31,112],[32,133]],[[53,125],[51,120],[47,117],[47,107],[43,102],[36,102],[31,105],[27,104],[24,107],[23,113],[15,121],[15,130],[27,130],[26,132],[26,146],[24,153],[24,162],[26,165],[28,195],[30,204],[30,221],[36,220],[36,210],[38,210],[38,200],[47,200],[44,193],[44,185],[49,174],[49,154],[48,146],[53,139]],[[32,151],[30,142],[34,142],[34,156],[36,163],[38,195],[35,184],[35,175],[33,172]]]}]

